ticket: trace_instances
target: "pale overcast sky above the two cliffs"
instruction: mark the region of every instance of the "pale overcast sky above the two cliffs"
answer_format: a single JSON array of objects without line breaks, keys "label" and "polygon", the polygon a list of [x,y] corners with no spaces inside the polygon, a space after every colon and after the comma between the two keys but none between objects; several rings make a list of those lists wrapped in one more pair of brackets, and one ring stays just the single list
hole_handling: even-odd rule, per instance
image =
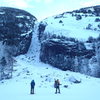
[{"label": "pale overcast sky above the two cliffs", "polygon": [[26,10],[38,20],[93,5],[100,5],[100,0],[0,0],[0,6]]}]

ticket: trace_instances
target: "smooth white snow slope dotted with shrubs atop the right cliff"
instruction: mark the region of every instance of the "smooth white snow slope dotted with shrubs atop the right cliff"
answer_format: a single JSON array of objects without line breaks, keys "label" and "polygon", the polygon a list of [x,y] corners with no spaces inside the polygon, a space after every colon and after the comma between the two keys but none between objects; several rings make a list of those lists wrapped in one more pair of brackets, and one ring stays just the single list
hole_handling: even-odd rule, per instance
[{"label": "smooth white snow slope dotted with shrubs atop the right cliff", "polygon": [[98,37],[100,33],[100,28],[98,27],[100,21],[96,20],[99,19],[100,16],[94,14],[94,7],[83,9],[91,11],[92,13],[84,13],[80,9],[72,12],[65,12],[43,20],[43,22],[47,23],[44,33],[56,34],[59,36],[63,35],[83,41],[87,40],[90,36],[94,38]]}]

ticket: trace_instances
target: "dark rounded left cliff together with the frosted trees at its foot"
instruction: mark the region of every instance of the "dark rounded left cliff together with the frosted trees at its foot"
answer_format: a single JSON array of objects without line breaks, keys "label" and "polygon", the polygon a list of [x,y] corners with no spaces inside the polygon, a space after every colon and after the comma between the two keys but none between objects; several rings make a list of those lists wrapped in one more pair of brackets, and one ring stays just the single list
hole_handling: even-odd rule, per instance
[{"label": "dark rounded left cliff together with the frosted trees at its foot", "polygon": [[0,7],[0,80],[12,78],[13,57],[27,53],[35,21],[24,10]]}]

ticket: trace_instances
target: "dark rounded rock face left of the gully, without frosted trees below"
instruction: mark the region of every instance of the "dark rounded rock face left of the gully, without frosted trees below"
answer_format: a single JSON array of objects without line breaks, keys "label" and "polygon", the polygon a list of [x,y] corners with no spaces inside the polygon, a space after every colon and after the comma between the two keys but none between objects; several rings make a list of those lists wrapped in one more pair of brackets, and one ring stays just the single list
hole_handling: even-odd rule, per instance
[{"label": "dark rounded rock face left of the gully, without frosted trees below", "polygon": [[25,54],[30,46],[36,18],[30,13],[0,7],[0,42],[13,46],[14,55]]}]

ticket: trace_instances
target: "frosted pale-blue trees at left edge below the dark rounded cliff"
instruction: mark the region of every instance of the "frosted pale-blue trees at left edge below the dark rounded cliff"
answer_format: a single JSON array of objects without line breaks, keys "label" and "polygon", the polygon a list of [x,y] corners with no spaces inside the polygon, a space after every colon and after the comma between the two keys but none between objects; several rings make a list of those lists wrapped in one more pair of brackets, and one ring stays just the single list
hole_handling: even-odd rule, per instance
[{"label": "frosted pale-blue trees at left edge below the dark rounded cliff", "polygon": [[12,77],[14,47],[3,45],[2,55],[0,55],[0,80]]}]

